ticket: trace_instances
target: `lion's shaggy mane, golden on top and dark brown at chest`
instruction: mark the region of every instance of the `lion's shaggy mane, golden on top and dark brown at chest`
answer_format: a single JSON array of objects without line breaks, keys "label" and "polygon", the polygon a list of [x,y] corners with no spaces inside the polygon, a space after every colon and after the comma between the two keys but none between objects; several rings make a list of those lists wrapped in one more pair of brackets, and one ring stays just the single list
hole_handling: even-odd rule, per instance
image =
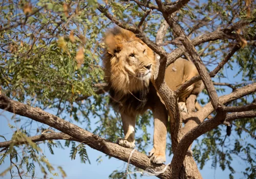
[{"label": "lion's shaggy mane, golden on top and dark brown at chest", "polygon": [[[105,35],[105,52],[102,56],[105,80],[110,85],[110,103],[119,111],[125,113],[144,113],[145,105],[148,102],[148,94],[152,91],[152,84],[140,81],[136,78],[129,78],[129,74],[125,71],[123,64],[118,62],[115,55],[120,50],[125,50],[124,43],[139,41],[143,43],[134,33],[115,27],[108,31]],[[143,43],[144,44],[144,43]],[[153,74],[155,71],[154,52],[147,48],[148,59],[153,63]],[[154,90],[154,89],[153,89]]]}]

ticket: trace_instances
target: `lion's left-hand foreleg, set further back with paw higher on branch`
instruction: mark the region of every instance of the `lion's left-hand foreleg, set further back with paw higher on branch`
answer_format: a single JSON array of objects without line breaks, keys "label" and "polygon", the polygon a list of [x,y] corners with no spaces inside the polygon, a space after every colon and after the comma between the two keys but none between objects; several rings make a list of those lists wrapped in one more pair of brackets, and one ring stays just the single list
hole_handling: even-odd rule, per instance
[{"label": "lion's left-hand foreleg, set further back with paw higher on branch", "polygon": [[116,143],[127,148],[135,148],[135,123],[136,115],[121,113],[124,138],[118,138]]}]

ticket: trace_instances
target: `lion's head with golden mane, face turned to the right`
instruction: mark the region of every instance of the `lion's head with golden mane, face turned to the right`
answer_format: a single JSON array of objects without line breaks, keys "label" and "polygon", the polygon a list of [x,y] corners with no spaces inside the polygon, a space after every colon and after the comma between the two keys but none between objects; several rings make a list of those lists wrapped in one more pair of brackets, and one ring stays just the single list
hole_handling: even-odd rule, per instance
[{"label": "lion's head with golden mane, face turned to the right", "polygon": [[155,71],[154,52],[134,33],[116,27],[105,35],[103,65],[106,81],[124,94],[148,86]]}]

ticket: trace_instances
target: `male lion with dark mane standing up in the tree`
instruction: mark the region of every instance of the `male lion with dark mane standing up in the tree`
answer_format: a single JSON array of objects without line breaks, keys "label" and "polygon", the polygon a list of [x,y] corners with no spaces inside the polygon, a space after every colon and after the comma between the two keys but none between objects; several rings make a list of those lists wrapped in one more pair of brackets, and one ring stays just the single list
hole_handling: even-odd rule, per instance
[{"label": "male lion with dark mane standing up in the tree", "polygon": [[[118,138],[116,142],[123,147],[135,148],[136,116],[150,109],[154,116],[154,147],[149,157],[153,163],[162,164],[165,162],[168,112],[151,82],[156,68],[155,54],[133,32],[119,27],[105,34],[104,43],[102,60],[105,80],[110,85],[110,103],[119,111],[124,131],[124,138]],[[165,81],[174,91],[197,75],[192,62],[179,58],[166,69]],[[201,85],[202,81],[198,81],[181,93],[178,99],[181,111],[187,112],[186,98],[190,94],[198,95]]]}]

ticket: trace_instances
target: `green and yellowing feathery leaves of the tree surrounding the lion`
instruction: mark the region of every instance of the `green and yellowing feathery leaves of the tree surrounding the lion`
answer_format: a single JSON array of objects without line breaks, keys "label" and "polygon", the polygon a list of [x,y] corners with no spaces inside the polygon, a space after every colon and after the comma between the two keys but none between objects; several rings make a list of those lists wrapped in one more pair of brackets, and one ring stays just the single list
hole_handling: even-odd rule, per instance
[{"label": "green and yellowing feathery leaves of the tree surrounding the lion", "polygon": [[[144,2],[144,1],[141,1]],[[166,1],[167,2],[167,1]],[[154,4],[153,1],[148,1]],[[102,1],[101,5],[122,21],[124,25],[138,25],[144,11],[134,1]],[[98,95],[96,92],[102,87],[94,84],[104,82],[102,63],[104,42],[102,37],[107,28],[113,27],[112,21],[97,10],[97,1],[51,1],[38,0],[27,2],[2,1],[0,2],[0,84],[2,91],[10,98],[38,106],[42,109],[54,111],[57,116],[81,124],[85,129],[115,141],[122,136],[121,120],[111,106],[107,93]],[[177,20],[191,39],[207,32],[212,32],[218,27],[228,27],[239,19],[255,20],[255,4],[248,6],[243,1],[191,1],[177,14]],[[157,10],[152,10],[146,17],[142,29],[147,37],[155,40],[162,15]],[[252,23],[247,28],[241,29],[244,39],[254,38],[255,27]],[[174,40],[176,37],[172,30],[168,30],[164,41]],[[197,50],[208,70],[212,70],[228,53],[234,40],[216,40],[200,44]],[[179,44],[165,44],[167,52],[173,51]],[[241,87],[255,82],[255,44],[247,44],[245,48],[236,53],[226,64],[226,69],[237,72],[241,81],[232,84]],[[241,75],[242,74],[242,75]],[[221,71],[214,81],[225,81],[230,75]],[[219,94],[227,91],[227,87],[217,87]],[[204,91],[206,94],[206,91]],[[92,97],[90,97],[92,96]],[[78,100],[84,97],[84,100]],[[90,97],[90,98],[88,98]],[[255,95],[242,98],[228,105],[244,105],[251,102]],[[205,97],[198,99],[201,104],[208,102]],[[19,168],[25,168],[24,175],[34,176],[35,165],[38,164],[42,173],[54,173],[53,166],[46,156],[40,151],[39,145],[29,140],[31,123],[29,120],[14,116],[14,122],[22,122],[20,128],[14,128],[12,140],[26,140],[29,145],[23,145],[22,158],[17,157],[20,148],[11,145],[1,152],[0,165],[6,161],[6,156],[16,162]],[[152,144],[152,134],[148,133],[147,126],[153,122],[152,114],[146,113],[137,119],[136,130],[142,135],[136,136],[137,147],[146,153],[146,147]],[[91,123],[97,125],[91,128]],[[14,126],[9,126],[14,127]],[[36,129],[38,135],[47,126],[39,124]],[[255,147],[248,138],[254,139],[255,119],[235,121],[232,127],[232,138],[226,137],[225,129],[220,126],[208,133],[203,139],[197,141],[194,148],[194,158],[200,168],[211,159],[212,167],[220,166],[223,170],[228,168],[230,178],[233,177],[233,158],[239,157],[248,164],[245,177],[255,178]],[[248,131],[244,130],[247,129]],[[1,134],[2,135],[2,134]],[[5,138],[4,136],[0,136]],[[78,152],[82,163],[90,163],[86,145],[66,141],[65,146],[59,142],[45,141],[49,151],[54,154],[54,147],[71,148],[70,157],[75,159]],[[71,145],[70,145],[71,144]],[[170,143],[167,144],[169,155],[172,154]],[[167,152],[168,153],[168,152]],[[243,153],[243,154],[242,154]],[[87,164],[87,163],[86,163]],[[5,175],[7,168],[0,174]],[[65,171],[57,167],[62,177]],[[119,171],[114,171],[110,177],[121,177]]]}]

